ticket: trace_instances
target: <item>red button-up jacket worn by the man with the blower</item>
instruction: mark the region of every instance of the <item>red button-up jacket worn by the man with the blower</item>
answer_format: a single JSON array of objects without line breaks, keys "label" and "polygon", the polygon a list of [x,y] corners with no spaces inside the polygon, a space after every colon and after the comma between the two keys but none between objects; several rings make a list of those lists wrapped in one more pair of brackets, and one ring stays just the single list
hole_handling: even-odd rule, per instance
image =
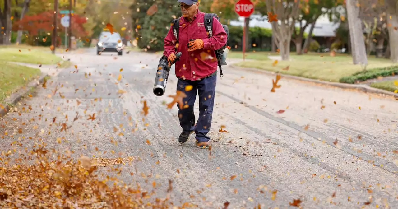
[{"label": "red button-up jacket worn by the man with the blower", "polygon": [[[209,38],[204,25],[205,13],[200,12],[189,22],[181,17],[178,31],[178,52],[182,52],[180,60],[176,62],[176,76],[181,79],[199,80],[205,78],[217,70],[217,59],[214,50],[220,49],[226,44],[227,35],[221,23],[213,19],[213,36]],[[203,49],[188,52],[189,39],[202,39]],[[176,53],[177,40],[173,34],[173,27],[164,38],[164,53],[168,57]]]}]

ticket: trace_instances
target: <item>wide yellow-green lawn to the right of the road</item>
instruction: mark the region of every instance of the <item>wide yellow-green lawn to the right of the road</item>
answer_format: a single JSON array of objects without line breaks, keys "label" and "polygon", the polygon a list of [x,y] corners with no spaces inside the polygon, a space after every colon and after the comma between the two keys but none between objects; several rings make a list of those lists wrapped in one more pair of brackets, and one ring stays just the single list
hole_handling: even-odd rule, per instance
[{"label": "wide yellow-green lawn to the right of the road", "polygon": [[[239,54],[238,52],[233,52],[232,55],[235,56],[235,53]],[[272,53],[270,54],[272,55]],[[242,54],[240,53],[240,55]],[[246,68],[258,68],[274,72],[281,72],[281,74],[290,74],[294,76],[320,79],[331,82],[339,82],[340,78],[344,76],[350,76],[355,72],[363,70],[360,65],[351,64],[352,58],[347,55],[336,55],[336,57],[331,57],[326,53],[310,53],[306,55],[295,55],[292,53],[290,56],[292,61],[278,61],[275,66],[273,66],[274,60],[267,58],[269,55],[267,55],[266,52],[252,52],[249,53],[248,57],[246,58],[259,60],[261,56],[261,61],[246,61],[236,63],[236,65]],[[228,54],[228,58],[231,57]],[[393,63],[387,59],[376,59],[369,57],[366,69],[383,68],[392,65]],[[287,66],[289,66],[289,70],[282,70],[282,68],[286,68]]]}]

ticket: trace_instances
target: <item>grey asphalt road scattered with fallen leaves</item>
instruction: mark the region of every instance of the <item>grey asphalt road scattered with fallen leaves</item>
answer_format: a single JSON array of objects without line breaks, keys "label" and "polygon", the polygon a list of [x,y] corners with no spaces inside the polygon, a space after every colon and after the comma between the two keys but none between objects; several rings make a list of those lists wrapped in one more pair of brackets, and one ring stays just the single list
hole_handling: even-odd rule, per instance
[{"label": "grey asphalt road scattered with fallen leaves", "polygon": [[[8,133],[2,150],[40,138],[49,147],[73,150],[76,158],[134,156],[118,178],[154,191],[152,198],[165,197],[172,180],[174,205],[295,208],[289,202],[300,199],[303,208],[398,208],[398,101],[284,78],[273,93],[274,77],[224,67],[209,153],[194,146],[193,136],[178,144],[178,109],[165,105],[175,94],[174,73],[164,96],[152,93],[160,54],[98,56],[90,49],[63,56],[78,72],[59,70],[47,88],[16,105],[1,121],[2,135]],[[150,108],[146,116],[143,100]],[[76,112],[79,119],[72,122]],[[71,127],[60,132],[62,126],[51,125],[54,117]],[[219,132],[221,125],[228,132]]]}]

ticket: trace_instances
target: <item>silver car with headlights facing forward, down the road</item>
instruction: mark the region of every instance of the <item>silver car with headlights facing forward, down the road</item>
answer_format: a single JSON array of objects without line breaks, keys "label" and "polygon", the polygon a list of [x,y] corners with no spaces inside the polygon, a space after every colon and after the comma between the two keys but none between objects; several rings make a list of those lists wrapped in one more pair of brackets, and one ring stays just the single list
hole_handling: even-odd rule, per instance
[{"label": "silver car with headlights facing forward, down the road", "polygon": [[101,33],[97,44],[97,55],[102,52],[117,52],[123,55],[123,41],[119,33],[104,31]]}]

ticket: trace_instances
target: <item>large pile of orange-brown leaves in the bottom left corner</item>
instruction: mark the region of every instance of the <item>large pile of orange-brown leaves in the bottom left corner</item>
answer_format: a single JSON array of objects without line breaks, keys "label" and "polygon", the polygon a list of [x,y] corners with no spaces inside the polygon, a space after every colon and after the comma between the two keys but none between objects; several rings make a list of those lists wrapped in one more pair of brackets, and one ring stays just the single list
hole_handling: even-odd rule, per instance
[{"label": "large pile of orange-brown leaves in the bottom left corner", "polygon": [[[10,155],[3,152],[5,158],[0,158],[1,208],[138,208],[144,204],[140,189],[99,180],[93,163],[97,160],[87,156],[74,162],[40,146],[16,159],[19,164],[9,165],[5,159]],[[166,200],[156,202],[160,208],[166,204]]]}]

